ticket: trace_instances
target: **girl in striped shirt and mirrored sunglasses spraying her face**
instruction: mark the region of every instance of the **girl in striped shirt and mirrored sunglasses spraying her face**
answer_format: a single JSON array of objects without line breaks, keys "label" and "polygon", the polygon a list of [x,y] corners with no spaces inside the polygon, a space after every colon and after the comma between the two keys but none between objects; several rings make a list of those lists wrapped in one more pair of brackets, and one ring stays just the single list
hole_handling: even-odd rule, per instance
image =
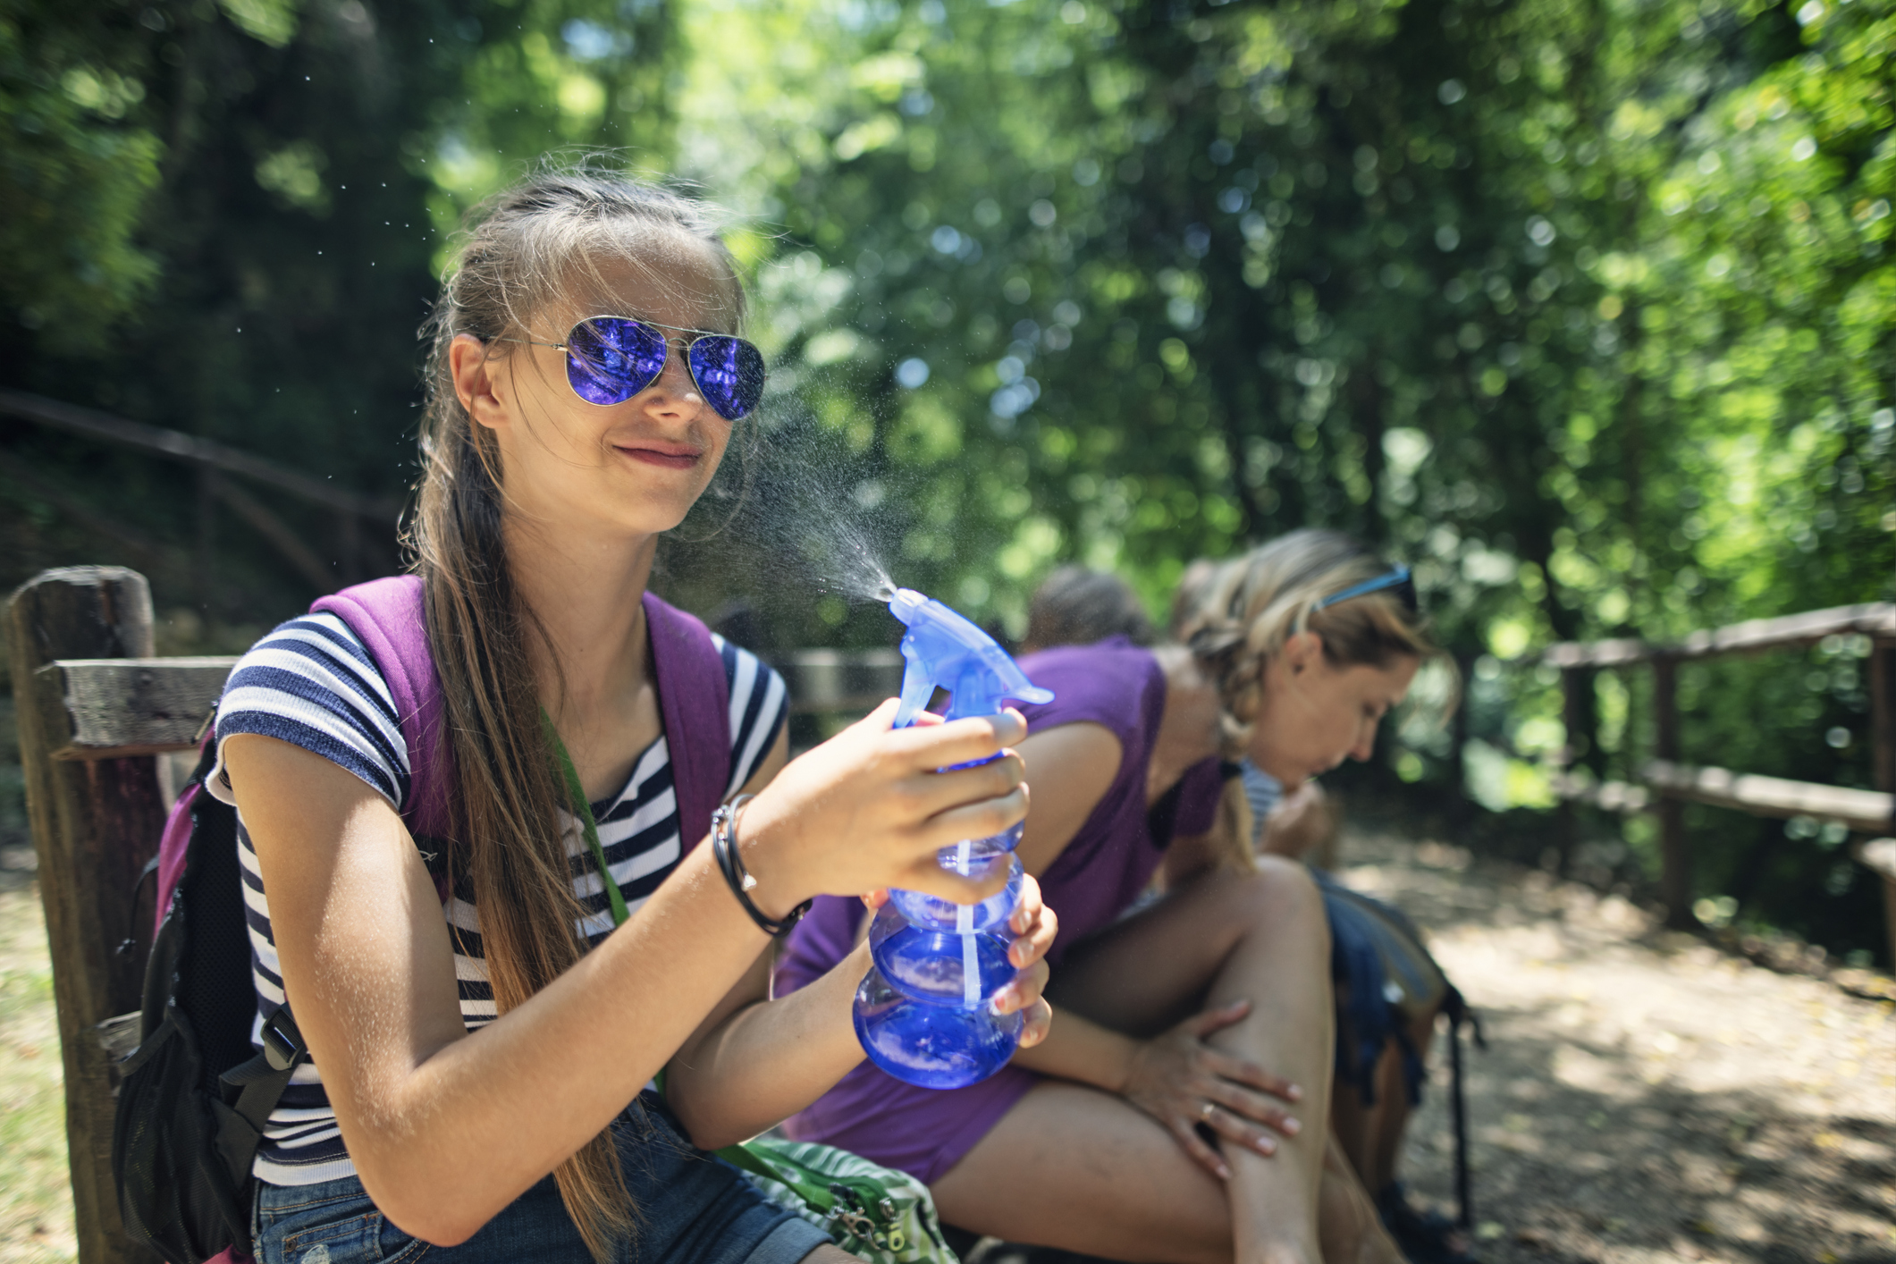
[{"label": "girl in striped shirt and mirrored sunglasses spraying her face", "polygon": [[[933,857],[1020,821],[1005,747],[1026,726],[893,731],[891,699],[785,766],[783,682],[719,644],[755,887],[698,845],[643,597],[658,533],[758,402],[741,318],[707,218],[662,190],[550,172],[474,218],[432,322],[411,540],[447,733],[432,857],[400,815],[417,769],[387,678],[341,620],[284,623],[231,677],[214,792],[239,813],[260,1025],[288,1004],[311,1054],[254,1165],[265,1264],[849,1258],[702,1150],[863,1057],[866,951],[766,1002],[760,921],[823,893],[990,894]],[[1028,968],[1001,1004],[1031,1044],[1035,893],[1014,930]]]}]

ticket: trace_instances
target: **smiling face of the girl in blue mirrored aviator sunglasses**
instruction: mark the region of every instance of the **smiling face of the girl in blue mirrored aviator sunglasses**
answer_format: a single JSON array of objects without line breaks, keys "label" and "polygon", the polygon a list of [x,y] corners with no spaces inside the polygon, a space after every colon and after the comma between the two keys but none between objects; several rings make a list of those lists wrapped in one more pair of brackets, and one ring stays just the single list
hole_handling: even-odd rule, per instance
[{"label": "smiling face of the girl in blue mirrored aviator sunglasses", "polygon": [[537,313],[525,341],[457,337],[455,390],[495,432],[506,512],[565,540],[609,544],[677,527],[717,474],[732,423],[713,411],[679,343],[650,387],[624,404],[588,404],[567,383],[565,343],[586,316],[635,316],[675,330],[736,334],[732,282],[709,246],[654,233],[637,260],[601,260],[603,294],[586,311]]}]

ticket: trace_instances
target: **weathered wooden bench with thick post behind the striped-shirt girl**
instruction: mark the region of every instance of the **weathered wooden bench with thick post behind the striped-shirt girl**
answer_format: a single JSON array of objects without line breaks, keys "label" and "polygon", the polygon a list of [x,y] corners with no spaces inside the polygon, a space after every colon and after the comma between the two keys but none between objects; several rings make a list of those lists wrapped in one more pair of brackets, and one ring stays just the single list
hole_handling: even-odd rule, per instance
[{"label": "weathered wooden bench with thick post behind the striped-shirt girl", "polygon": [[[112,1181],[116,1063],[138,1040],[157,851],[171,788],[155,756],[195,750],[235,658],[154,658],[152,589],[123,567],[46,570],[8,606],[27,815],[53,961],[82,1264],[152,1264],[123,1237]],[[779,663],[798,716],[853,718],[901,688],[893,650]]]}]

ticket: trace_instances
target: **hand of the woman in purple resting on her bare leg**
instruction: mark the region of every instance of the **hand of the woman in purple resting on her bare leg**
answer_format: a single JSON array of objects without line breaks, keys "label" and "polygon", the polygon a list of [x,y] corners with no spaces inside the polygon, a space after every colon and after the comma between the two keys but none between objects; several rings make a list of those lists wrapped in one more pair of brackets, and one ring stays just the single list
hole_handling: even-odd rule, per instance
[{"label": "hand of the woman in purple resting on her bare leg", "polygon": [[[1223,1054],[1204,1042],[1219,1027],[1244,1021],[1249,1001],[1206,1010],[1139,1044],[1121,1095],[1166,1126],[1191,1158],[1221,1181],[1231,1167],[1204,1143],[1198,1126],[1259,1154],[1276,1154],[1278,1143],[1259,1124],[1295,1137],[1299,1124],[1282,1101],[1299,1101],[1303,1090],[1263,1067]],[[1257,1092],[1253,1092],[1257,1090]]]}]

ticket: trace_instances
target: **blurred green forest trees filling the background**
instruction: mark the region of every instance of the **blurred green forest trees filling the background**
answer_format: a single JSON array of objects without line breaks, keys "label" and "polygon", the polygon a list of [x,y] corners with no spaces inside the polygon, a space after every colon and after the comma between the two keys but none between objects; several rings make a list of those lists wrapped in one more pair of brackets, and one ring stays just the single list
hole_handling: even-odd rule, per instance
[{"label": "blurred green forest trees filling the background", "polygon": [[[885,644],[857,544],[1018,631],[1060,561],[1162,612],[1356,531],[1468,684],[1363,796],[1534,857],[1545,758],[1627,771],[1648,682],[1568,733],[1513,659],[1892,595],[1892,47],[1890,0],[0,0],[0,385],[398,497],[457,216],[614,148],[732,207],[774,366],[673,593]],[[0,578],[140,565],[180,646],[313,595],[182,464],[0,419]],[[1687,667],[1687,758],[1869,785],[1866,650]],[[1841,836],[1689,821],[1714,919],[1877,944]],[[1648,821],[1579,838],[1648,879]]]}]

